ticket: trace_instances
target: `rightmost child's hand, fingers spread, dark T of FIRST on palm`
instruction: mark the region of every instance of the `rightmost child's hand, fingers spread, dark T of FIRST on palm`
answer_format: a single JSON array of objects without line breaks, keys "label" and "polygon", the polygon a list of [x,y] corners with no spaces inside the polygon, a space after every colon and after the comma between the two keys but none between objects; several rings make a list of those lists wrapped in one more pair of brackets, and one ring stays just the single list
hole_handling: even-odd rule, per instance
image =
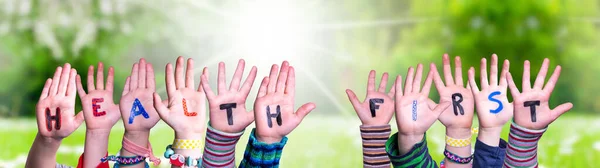
[{"label": "rightmost child's hand, fingers spread, dark T of FIRST on palm", "polygon": [[573,104],[568,102],[561,104],[554,109],[550,109],[548,100],[558,81],[558,77],[560,77],[561,67],[556,66],[550,80],[548,80],[548,83],[544,87],[544,80],[548,73],[549,62],[550,60],[548,60],[548,58],[544,59],[544,63],[535,79],[533,88],[531,88],[529,77],[530,63],[529,61],[525,61],[522,93],[519,93],[519,89],[517,89],[517,86],[512,79],[512,75],[510,73],[508,74],[509,87],[514,99],[514,120],[517,125],[528,129],[543,129],[550,125],[550,123],[556,120],[560,115],[573,108]]}]

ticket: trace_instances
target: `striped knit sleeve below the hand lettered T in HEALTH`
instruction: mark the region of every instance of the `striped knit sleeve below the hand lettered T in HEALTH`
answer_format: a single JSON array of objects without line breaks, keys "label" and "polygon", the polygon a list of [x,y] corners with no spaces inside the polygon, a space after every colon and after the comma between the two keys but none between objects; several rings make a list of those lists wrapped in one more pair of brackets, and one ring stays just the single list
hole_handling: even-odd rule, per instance
[{"label": "striped knit sleeve below the hand lettered T in HEALTH", "polygon": [[208,125],[202,167],[235,167],[235,145],[242,132],[226,133]]}]

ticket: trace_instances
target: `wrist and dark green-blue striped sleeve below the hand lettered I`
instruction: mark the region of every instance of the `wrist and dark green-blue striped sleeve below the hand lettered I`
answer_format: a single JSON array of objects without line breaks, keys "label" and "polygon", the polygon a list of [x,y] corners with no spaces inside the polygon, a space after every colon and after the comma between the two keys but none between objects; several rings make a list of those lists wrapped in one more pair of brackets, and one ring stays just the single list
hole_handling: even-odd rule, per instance
[{"label": "wrist and dark green-blue striped sleeve below the hand lettered I", "polygon": [[[429,155],[424,134],[400,135],[396,133],[385,143],[385,150],[395,168],[437,167],[435,161]],[[404,152],[402,152],[403,150]]]}]

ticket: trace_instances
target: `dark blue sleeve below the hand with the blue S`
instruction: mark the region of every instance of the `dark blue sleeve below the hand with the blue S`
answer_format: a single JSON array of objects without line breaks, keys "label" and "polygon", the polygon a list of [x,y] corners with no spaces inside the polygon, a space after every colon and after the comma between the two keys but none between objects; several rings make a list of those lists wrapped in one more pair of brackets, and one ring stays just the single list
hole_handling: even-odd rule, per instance
[{"label": "dark blue sleeve below the hand with the blue S", "polygon": [[473,167],[502,167],[506,155],[507,143],[500,139],[497,147],[486,145],[479,141],[475,142],[475,153],[473,153]]}]

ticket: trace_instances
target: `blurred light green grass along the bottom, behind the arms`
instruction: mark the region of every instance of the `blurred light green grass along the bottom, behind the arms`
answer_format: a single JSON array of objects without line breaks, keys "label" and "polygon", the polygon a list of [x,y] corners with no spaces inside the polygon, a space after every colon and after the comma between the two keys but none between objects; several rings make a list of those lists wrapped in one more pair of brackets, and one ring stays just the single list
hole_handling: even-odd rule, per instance
[{"label": "blurred light green grass along the bottom, behind the arms", "polygon": [[[392,121],[395,130],[394,123]],[[305,119],[288,136],[281,167],[362,167],[359,125],[360,121],[356,118],[315,115]],[[37,132],[35,120],[0,120],[0,126],[4,128],[0,130],[0,167],[23,167]],[[508,124],[503,132],[504,139],[508,134],[507,128]],[[243,156],[250,130],[246,129],[237,145],[237,163]],[[110,154],[119,150],[122,135],[122,123],[118,123],[111,133]],[[444,135],[444,127],[439,122],[427,132],[430,154],[436,161],[443,157]],[[83,151],[84,139],[85,128],[82,127],[63,140],[58,162],[75,166]],[[160,122],[152,129],[150,141],[157,156],[162,156],[164,146],[172,140],[173,131],[164,123]],[[550,125],[538,149],[542,167],[594,167],[594,161],[600,158],[600,118],[563,116]],[[162,164],[163,167],[167,165]]]}]

